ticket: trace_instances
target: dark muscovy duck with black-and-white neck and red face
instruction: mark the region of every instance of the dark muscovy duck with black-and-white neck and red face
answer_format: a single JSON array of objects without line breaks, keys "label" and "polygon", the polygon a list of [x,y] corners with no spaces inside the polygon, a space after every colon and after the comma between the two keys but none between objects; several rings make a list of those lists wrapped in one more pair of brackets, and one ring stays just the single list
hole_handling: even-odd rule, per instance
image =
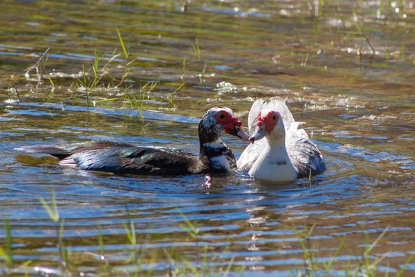
[{"label": "dark muscovy duck with black-and-white neck and red face", "polygon": [[174,148],[149,148],[113,141],[88,141],[69,145],[33,145],[16,148],[23,152],[45,153],[62,166],[137,175],[187,175],[205,172],[232,172],[237,169],[234,154],[222,134],[244,141],[249,135],[232,109],[212,107],[199,123],[199,155]]}]

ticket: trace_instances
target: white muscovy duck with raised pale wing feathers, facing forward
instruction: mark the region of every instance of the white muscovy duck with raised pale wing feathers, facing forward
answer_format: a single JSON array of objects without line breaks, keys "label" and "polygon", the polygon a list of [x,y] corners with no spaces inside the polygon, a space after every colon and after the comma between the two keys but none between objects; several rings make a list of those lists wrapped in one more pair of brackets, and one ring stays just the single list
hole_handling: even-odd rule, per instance
[{"label": "white muscovy duck with raised pale wing feathers, facing forward", "polygon": [[252,144],[238,159],[239,170],[266,181],[294,181],[326,170],[317,146],[298,129],[304,122],[295,122],[284,102],[256,100],[248,124]]}]

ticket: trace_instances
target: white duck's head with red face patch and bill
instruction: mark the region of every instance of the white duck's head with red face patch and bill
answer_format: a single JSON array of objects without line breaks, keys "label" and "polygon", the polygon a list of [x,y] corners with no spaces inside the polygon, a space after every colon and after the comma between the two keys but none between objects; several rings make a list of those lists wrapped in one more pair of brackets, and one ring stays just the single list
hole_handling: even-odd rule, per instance
[{"label": "white duck's head with red face patch and bill", "polygon": [[278,139],[285,137],[284,123],[282,123],[281,114],[273,109],[263,109],[259,111],[257,118],[257,127],[251,134],[249,141],[254,143],[264,136],[276,136]]}]

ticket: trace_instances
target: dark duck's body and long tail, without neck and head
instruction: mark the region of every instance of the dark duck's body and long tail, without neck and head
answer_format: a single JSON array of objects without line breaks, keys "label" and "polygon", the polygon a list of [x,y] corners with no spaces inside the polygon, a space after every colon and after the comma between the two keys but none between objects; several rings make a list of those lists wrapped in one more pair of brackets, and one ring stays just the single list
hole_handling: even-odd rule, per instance
[{"label": "dark duck's body and long tail, without neck and head", "polygon": [[209,170],[199,155],[172,148],[146,148],[114,141],[88,141],[68,145],[33,145],[24,152],[53,155],[63,166],[137,175],[187,175]]}]

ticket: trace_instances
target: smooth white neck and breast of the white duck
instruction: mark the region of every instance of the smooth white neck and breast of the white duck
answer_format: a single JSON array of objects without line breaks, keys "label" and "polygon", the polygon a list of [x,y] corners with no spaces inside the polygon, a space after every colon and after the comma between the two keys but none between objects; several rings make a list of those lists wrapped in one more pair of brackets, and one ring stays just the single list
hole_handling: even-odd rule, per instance
[{"label": "smooth white neck and breast of the white duck", "polygon": [[265,137],[265,148],[249,171],[255,179],[268,181],[294,181],[298,171],[291,163],[282,136]]}]

